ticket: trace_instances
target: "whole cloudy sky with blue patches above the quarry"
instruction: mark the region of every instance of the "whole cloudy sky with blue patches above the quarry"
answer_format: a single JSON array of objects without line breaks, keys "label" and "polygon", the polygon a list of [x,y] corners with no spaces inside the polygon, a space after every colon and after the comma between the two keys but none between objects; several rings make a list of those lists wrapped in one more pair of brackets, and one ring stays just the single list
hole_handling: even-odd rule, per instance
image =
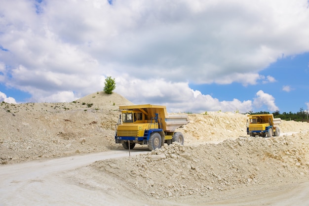
[{"label": "whole cloudy sky with blue patches above the quarry", "polygon": [[309,109],[308,0],[0,0],[0,101]]}]

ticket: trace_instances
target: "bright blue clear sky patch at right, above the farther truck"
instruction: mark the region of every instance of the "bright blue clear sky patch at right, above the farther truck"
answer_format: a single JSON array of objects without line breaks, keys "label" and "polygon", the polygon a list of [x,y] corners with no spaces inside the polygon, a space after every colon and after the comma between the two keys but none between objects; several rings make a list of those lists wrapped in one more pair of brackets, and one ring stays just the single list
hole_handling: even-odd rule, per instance
[{"label": "bright blue clear sky patch at right, above the farther truck", "polygon": [[[243,86],[241,83],[232,84],[190,84],[204,94],[211,94],[220,101],[232,101],[234,98],[244,101],[256,98],[256,93],[263,90],[275,99],[275,105],[280,113],[299,112],[300,108],[308,109],[309,101],[309,53],[299,54],[278,59],[265,70],[263,76],[275,79],[271,83],[259,82],[255,85]],[[270,111],[267,105],[255,107],[255,112]]]}]

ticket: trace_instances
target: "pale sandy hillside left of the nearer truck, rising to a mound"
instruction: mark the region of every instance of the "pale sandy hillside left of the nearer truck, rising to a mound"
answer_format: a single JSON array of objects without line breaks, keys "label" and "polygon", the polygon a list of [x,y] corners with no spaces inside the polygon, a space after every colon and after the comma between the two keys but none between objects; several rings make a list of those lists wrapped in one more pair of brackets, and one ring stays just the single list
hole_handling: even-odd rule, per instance
[{"label": "pale sandy hillside left of the nearer truck, rising to a mound", "polygon": [[[0,164],[115,148],[118,94],[97,92],[70,103],[0,103]],[[117,146],[116,146],[117,147]]]}]

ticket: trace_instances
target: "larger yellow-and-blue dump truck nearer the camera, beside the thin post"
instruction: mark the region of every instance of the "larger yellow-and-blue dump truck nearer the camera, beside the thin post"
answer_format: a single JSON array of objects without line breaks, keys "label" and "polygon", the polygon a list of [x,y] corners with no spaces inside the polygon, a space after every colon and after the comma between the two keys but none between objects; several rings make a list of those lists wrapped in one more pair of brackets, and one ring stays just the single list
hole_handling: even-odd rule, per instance
[{"label": "larger yellow-and-blue dump truck nearer the camera, beside the thin post", "polygon": [[147,144],[149,150],[164,143],[184,144],[183,134],[175,130],[190,122],[187,115],[168,115],[165,106],[151,104],[119,106],[119,109],[115,140],[123,148],[133,149],[136,143]]}]

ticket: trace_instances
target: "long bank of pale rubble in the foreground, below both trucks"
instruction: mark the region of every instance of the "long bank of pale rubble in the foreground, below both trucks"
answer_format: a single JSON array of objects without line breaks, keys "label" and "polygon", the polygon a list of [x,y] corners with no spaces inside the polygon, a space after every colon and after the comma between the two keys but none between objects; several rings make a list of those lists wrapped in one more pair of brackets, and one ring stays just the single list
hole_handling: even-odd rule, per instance
[{"label": "long bank of pale rubble in the foreground, below both trucks", "polygon": [[[309,133],[165,145],[147,155],[96,162],[95,170],[156,198],[212,197],[219,191],[309,179]],[[306,140],[304,142],[304,140]]]}]

